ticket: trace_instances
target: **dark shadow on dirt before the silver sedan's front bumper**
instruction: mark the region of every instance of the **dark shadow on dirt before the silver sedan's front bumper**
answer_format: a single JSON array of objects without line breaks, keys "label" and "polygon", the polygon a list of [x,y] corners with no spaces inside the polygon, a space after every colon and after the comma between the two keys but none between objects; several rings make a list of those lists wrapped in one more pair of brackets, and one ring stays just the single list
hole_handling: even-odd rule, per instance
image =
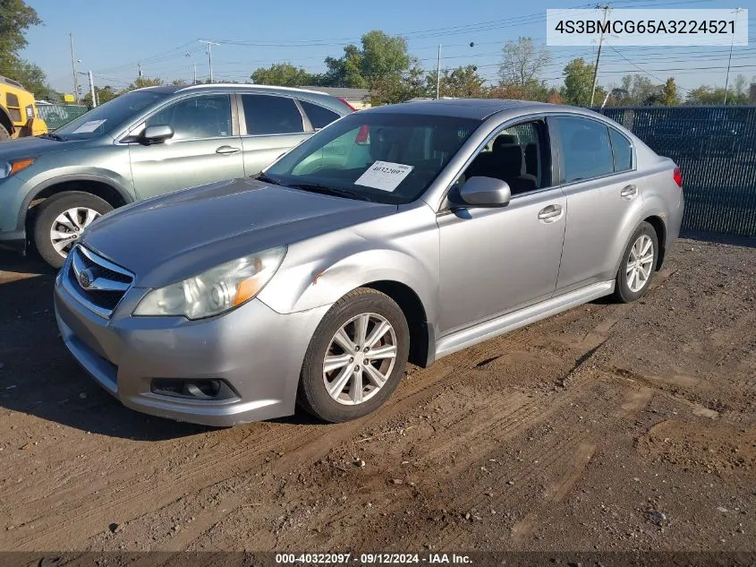
[{"label": "dark shadow on dirt before the silver sedan's front bumper", "polygon": [[[53,308],[55,273],[38,258],[0,252],[0,408],[137,441],[163,441],[216,429],[124,408],[100,388],[60,339]],[[319,424],[303,412],[271,423]]]}]

